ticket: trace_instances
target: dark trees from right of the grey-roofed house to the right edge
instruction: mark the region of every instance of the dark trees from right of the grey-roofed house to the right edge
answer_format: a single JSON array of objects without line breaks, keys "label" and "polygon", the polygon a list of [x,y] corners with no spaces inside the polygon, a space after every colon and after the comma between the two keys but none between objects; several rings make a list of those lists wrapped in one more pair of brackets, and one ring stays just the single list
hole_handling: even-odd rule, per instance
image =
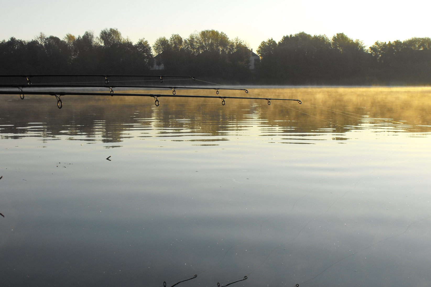
[{"label": "dark trees from right of the grey-roofed house to the right edge", "polygon": [[329,39],[304,32],[263,41],[258,69],[264,83],[430,84],[431,39],[412,38],[366,49],[343,33]]}]

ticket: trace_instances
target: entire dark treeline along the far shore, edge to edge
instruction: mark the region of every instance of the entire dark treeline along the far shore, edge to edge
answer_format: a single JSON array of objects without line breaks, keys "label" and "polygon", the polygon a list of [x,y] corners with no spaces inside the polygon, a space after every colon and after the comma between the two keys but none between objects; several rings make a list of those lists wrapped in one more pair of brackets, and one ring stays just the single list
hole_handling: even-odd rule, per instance
[{"label": "entire dark treeline along the far shore, edge to edge", "polygon": [[[362,85],[430,84],[431,39],[376,42],[368,49],[343,33],[329,39],[304,32],[263,41],[250,70],[250,49],[215,30],[183,39],[133,43],[117,29],[95,36],[40,34],[0,42],[0,74],[177,74],[219,83]],[[153,70],[156,68],[156,70]]]}]

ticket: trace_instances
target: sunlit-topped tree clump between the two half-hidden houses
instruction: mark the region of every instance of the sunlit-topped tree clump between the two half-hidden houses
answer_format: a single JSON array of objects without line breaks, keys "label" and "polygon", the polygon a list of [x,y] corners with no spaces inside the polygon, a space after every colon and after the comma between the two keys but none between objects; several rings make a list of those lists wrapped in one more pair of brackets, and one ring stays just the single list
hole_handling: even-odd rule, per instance
[{"label": "sunlit-topped tree clump between the two half-hidden houses", "polygon": [[250,51],[238,38],[230,40],[219,31],[204,30],[183,39],[173,34],[169,40],[159,37],[153,50],[156,65],[164,65],[162,73],[199,75],[219,81],[247,81]]}]

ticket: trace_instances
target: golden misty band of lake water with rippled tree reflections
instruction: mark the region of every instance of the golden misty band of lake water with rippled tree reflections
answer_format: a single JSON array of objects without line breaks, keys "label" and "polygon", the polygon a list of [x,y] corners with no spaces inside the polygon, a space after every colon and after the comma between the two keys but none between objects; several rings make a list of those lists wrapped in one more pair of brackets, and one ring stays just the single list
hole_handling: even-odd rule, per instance
[{"label": "golden misty band of lake water with rippled tree reflections", "polygon": [[[179,89],[178,95],[215,93]],[[220,96],[301,99],[303,104],[272,100],[267,105],[265,100],[226,99],[223,106],[220,99],[160,97],[160,106],[156,107],[150,97],[63,96],[64,106],[59,110],[52,96],[20,100],[18,96],[3,95],[0,133],[3,137],[33,133],[46,138],[80,136],[81,140],[85,136],[88,141],[100,134],[103,142],[122,142],[131,130],[156,129],[159,136],[185,130],[220,137],[250,123],[278,127],[278,134],[336,133],[337,140],[347,139],[342,136],[347,131],[370,127],[410,133],[431,130],[430,88],[253,88],[248,95],[222,90]]]}]

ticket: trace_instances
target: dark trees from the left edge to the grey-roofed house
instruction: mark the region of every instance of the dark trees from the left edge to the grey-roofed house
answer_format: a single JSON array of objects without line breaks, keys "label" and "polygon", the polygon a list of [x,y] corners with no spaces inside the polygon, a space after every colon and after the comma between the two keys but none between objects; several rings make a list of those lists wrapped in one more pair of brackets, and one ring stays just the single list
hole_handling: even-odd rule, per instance
[{"label": "dark trees from the left edge to the grey-roofed house", "polygon": [[86,31],[60,39],[41,33],[31,41],[0,42],[0,74],[176,74],[244,82],[250,79],[249,58],[242,40],[214,30],[187,39],[159,37],[153,47],[144,38],[133,43],[113,28],[99,36]]}]

